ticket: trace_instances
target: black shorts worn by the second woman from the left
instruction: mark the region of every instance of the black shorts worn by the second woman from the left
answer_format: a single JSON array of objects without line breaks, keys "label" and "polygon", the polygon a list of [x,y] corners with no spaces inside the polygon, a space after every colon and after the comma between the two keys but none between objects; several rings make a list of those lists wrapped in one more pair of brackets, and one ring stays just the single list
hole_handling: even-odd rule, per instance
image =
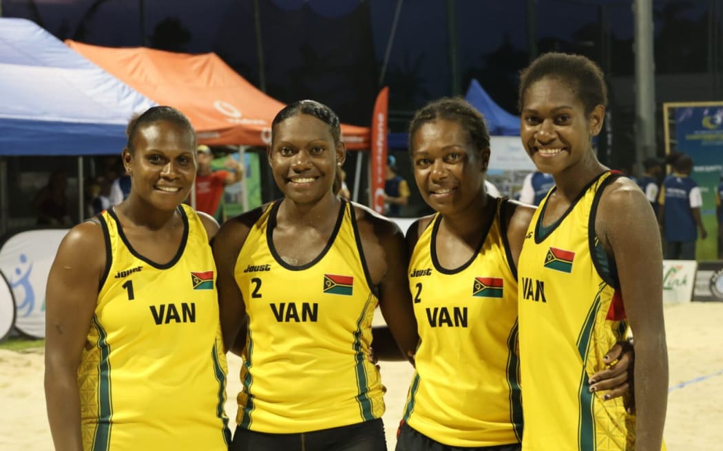
[{"label": "black shorts worn by the second woman from the left", "polygon": [[236,427],[229,451],[387,451],[382,419],[299,434]]}]

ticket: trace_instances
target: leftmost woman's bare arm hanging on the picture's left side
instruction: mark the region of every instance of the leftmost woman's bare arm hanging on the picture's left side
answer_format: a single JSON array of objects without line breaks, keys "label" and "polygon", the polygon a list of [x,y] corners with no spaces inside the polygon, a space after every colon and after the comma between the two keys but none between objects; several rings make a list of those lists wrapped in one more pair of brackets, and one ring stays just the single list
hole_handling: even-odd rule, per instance
[{"label": "leftmost woman's bare arm hanging on the picture's left side", "polygon": [[77,373],[105,269],[103,230],[85,222],[64,237],[48,274],[45,393],[56,450],[82,450]]}]

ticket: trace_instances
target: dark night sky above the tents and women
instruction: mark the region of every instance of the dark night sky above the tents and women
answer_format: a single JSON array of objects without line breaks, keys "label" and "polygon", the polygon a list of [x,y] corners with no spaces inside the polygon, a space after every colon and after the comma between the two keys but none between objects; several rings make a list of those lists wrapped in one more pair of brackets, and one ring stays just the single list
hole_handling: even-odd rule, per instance
[{"label": "dark night sky above the tents and women", "polygon": [[[109,46],[142,45],[139,5],[145,3],[149,45],[156,42],[153,32],[158,24],[165,20],[168,25],[169,19],[175,19],[164,35],[163,45],[170,45],[169,50],[214,51],[250,82],[260,84],[251,0],[1,1],[3,16],[35,19],[61,39]],[[612,45],[611,67],[604,69],[632,75],[632,3],[537,0],[539,50],[576,51],[596,58],[598,5],[604,5],[609,32],[617,42]],[[397,1],[259,0],[259,4],[269,94],[283,102],[317,98],[346,121],[367,125]],[[403,1],[382,83],[391,87],[390,109],[414,110],[452,93],[446,4],[442,0]],[[704,22],[707,4],[708,0],[654,1],[656,35],[664,30],[660,14],[664,8],[674,10],[677,19]],[[462,93],[475,77],[513,112],[516,74],[529,61],[526,0],[455,0],[455,5]],[[701,36],[706,37],[704,30],[698,33],[698,41]],[[688,38],[696,40],[696,36]],[[680,58],[680,65],[682,71],[695,66],[685,58]],[[704,64],[698,66],[705,69]]]}]

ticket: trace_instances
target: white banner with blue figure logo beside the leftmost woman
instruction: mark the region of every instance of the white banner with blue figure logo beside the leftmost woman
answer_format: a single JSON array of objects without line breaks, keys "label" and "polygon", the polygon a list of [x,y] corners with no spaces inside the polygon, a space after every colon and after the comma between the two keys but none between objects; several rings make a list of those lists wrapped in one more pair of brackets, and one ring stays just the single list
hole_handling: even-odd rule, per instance
[{"label": "white banner with blue figure logo beside the leftmost woman", "polygon": [[17,305],[15,328],[27,336],[45,337],[46,281],[67,232],[66,229],[20,232],[0,249],[0,270],[7,277]]}]

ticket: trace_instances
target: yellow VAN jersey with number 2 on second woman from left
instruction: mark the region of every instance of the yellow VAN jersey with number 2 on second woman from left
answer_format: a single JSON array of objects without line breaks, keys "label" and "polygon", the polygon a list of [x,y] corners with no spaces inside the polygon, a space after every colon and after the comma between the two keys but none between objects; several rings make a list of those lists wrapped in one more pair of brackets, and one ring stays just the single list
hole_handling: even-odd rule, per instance
[{"label": "yellow VAN jersey with number 2 on second woman from left", "polygon": [[342,201],[324,250],[291,266],[273,245],[280,204],[254,224],[236,260],[249,315],[236,421],[288,434],[380,418],[382,384],[367,359],[378,300],[362,263],[354,207]]}]

